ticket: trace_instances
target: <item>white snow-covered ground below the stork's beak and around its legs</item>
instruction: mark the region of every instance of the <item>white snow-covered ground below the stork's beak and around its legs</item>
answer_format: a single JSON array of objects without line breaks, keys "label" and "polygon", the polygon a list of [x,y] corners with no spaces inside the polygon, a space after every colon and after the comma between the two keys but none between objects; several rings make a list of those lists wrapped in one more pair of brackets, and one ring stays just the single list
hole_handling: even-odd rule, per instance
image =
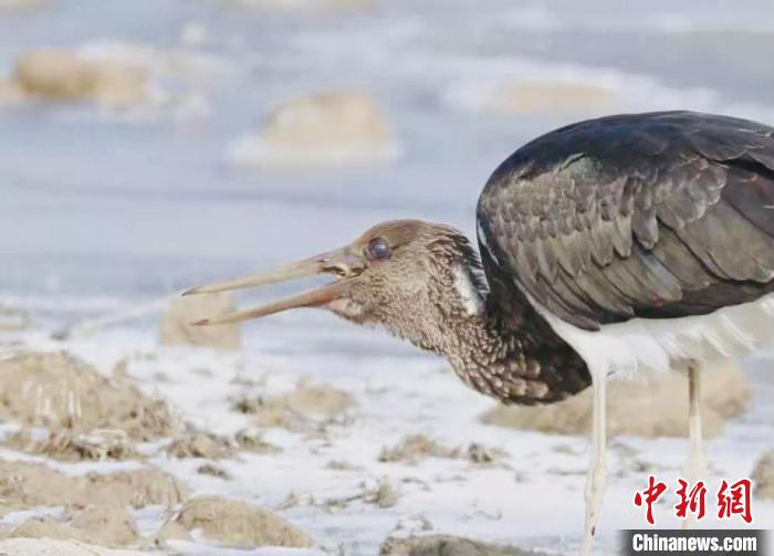
[{"label": "white snow-covered ground below the stork's beak and around its legs", "polygon": [[[367,555],[390,535],[438,532],[550,554],[573,554],[577,548],[588,459],[584,438],[482,424],[479,417],[493,402],[462,386],[444,361],[402,349],[374,332],[352,329],[327,315],[280,316],[254,328],[260,329],[245,331],[252,339],[241,354],[158,347],[155,331],[124,327],[70,342],[49,339],[42,331],[6,335],[3,350],[66,349],[106,375],[124,361],[126,375],[144,392],[168,399],[182,419],[227,436],[255,426],[255,416],[234,410],[233,400],[240,396],[271,397],[304,382],[348,392],[355,403],[316,424],[264,427],[262,440],[276,450],[242,451],[213,462],[227,479],[197,472],[203,460],[196,458],[156,454],[144,463],[178,478],[191,494],[219,494],[275,508],[314,538],[312,550],[282,554]],[[771,444],[771,364],[745,364],[755,398],[750,411],[709,443],[714,481],[749,476],[761,450]],[[414,460],[380,458],[385,449],[415,434],[460,450],[453,457],[420,451]],[[634,493],[646,486],[644,470],[674,483],[686,454],[683,439],[611,442],[599,554],[609,554],[617,529],[645,525],[642,511],[631,502]],[[20,457],[8,450],[0,455]],[[55,465],[83,473],[130,464]],[[660,527],[678,526],[671,510],[676,502],[670,499],[657,507]],[[165,515],[161,508],[146,507],[135,517],[145,534],[153,534]],[[774,503],[755,501],[754,517],[756,526],[771,526]],[[172,545],[185,554],[215,550],[205,541]]]}]

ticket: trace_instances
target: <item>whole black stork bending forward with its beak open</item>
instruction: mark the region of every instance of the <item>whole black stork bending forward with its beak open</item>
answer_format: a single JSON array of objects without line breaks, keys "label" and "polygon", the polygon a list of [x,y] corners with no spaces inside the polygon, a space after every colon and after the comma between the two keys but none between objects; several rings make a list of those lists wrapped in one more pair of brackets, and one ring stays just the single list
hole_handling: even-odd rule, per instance
[{"label": "whole black stork bending forward with its beak open", "polygon": [[502,162],[477,216],[481,259],[453,228],[398,220],[187,293],[330,273],[328,285],[199,324],[322,307],[444,355],[505,403],[551,403],[593,385],[587,555],[607,484],[607,377],[687,370],[695,480],[702,367],[774,345],[774,128],[691,112],[573,124]]}]

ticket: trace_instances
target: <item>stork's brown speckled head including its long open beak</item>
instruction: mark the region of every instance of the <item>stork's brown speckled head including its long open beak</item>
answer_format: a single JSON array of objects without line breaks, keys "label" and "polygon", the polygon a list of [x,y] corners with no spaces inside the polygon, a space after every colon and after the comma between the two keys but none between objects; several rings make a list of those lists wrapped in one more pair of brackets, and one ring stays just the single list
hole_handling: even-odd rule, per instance
[{"label": "stork's brown speckled head including its long open beak", "polygon": [[475,251],[456,229],[419,220],[377,224],[335,251],[265,273],[196,287],[215,293],[314,274],[335,281],[253,310],[197,324],[237,323],[299,307],[320,307],[358,324],[380,324],[420,347],[443,350],[450,319],[483,310],[484,282]]}]

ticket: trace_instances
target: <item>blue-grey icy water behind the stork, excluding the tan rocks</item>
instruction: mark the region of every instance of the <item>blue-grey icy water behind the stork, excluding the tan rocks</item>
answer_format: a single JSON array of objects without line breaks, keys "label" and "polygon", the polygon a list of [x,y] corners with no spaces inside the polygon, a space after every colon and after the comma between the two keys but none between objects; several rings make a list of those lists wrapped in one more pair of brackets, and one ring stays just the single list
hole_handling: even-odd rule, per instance
[{"label": "blue-grey icy water behind the stork, excluding the tan rocks", "polygon": [[[582,105],[561,114],[468,109],[487,83],[571,78],[610,87],[606,112],[694,108],[774,120],[774,6],[763,0],[626,10],[569,0],[389,1],[301,13],[224,6],[79,0],[0,12],[0,70],[42,44],[175,48],[190,22],[210,34],[188,49],[206,67],[165,83],[192,82],[208,117],[1,108],[0,291],[153,295],[339,244],[384,218],[470,231],[478,193],[505,156],[596,115]],[[400,141],[398,161],[305,171],[224,161],[228,145],[257,129],[274,103],[331,87],[377,97]]]}]

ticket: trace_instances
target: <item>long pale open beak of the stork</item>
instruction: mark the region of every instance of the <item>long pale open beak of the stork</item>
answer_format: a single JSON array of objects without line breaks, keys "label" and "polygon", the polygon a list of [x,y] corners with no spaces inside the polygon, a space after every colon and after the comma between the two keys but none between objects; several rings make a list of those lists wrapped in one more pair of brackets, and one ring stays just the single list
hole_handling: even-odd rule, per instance
[{"label": "long pale open beak of the stork", "polygon": [[294,263],[280,266],[269,272],[250,274],[233,280],[216,282],[199,287],[188,290],[182,295],[194,295],[202,293],[228,292],[231,290],[241,290],[245,287],[255,287],[278,282],[285,282],[293,279],[304,276],[313,276],[315,274],[335,274],[339,277],[338,281],[331,284],[310,290],[307,292],[292,295],[260,307],[238,313],[231,313],[215,318],[203,318],[194,324],[199,326],[210,324],[228,324],[248,321],[250,318],[259,318],[266,315],[273,315],[282,311],[287,311],[297,307],[321,307],[336,300],[342,298],[347,291],[347,277],[358,275],[365,269],[363,256],[356,255],[347,245],[336,251],[322,253],[310,259],[304,259]]}]

